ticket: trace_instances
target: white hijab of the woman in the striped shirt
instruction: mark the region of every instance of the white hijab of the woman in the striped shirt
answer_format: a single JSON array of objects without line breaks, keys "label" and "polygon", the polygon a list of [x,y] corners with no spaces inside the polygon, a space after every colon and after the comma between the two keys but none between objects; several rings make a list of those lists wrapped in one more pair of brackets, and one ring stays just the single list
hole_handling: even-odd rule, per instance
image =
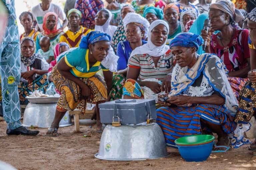
[{"label": "white hijab of the woman in the striped shirt", "polygon": [[150,39],[150,34],[151,34],[152,30],[159,24],[163,24],[167,28],[167,34],[169,33],[169,25],[167,24],[167,22],[165,22],[164,20],[153,21],[149,27],[148,43],[135,48],[132,51],[130,56],[134,56],[136,54],[149,54],[151,56],[161,56],[169,50],[169,46],[165,45],[167,38],[166,38],[164,44],[161,46],[155,46]]}]

